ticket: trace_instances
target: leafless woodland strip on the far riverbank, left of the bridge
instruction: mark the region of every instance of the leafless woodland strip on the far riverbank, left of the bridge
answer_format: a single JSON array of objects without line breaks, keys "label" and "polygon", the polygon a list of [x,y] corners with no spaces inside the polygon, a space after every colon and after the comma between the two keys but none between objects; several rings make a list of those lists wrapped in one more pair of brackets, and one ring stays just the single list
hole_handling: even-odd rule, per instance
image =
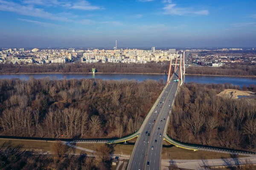
[{"label": "leafless woodland strip on the far riverbank, left of the bridge", "polygon": [[96,68],[99,73],[157,73],[168,72],[169,64],[125,64],[125,63],[93,63],[81,62],[45,65],[13,65],[0,64],[0,74],[9,73],[91,73]]}]

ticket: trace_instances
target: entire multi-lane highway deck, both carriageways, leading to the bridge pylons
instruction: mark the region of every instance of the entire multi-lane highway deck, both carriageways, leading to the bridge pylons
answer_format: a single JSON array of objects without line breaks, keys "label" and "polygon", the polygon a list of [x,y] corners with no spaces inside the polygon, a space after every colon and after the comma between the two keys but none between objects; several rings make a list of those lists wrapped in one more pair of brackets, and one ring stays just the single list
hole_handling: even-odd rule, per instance
[{"label": "entire multi-lane highway deck, both carriageways, leading to the bridge pylons", "polygon": [[[147,161],[149,161],[147,168],[152,167],[152,169],[156,168],[156,170],[160,168],[163,143],[163,136],[160,134],[163,134],[174,94],[177,91],[177,82],[174,82],[175,79],[177,79],[177,74],[172,75],[170,78],[171,83],[167,83],[157,102],[152,107],[153,114],[149,114],[147,116],[148,119],[144,120],[144,125],[140,128],[141,135],[138,137],[131,154],[128,170],[143,170]],[[155,140],[157,141],[155,142]],[[151,149],[152,146],[154,147],[153,150]]]}]

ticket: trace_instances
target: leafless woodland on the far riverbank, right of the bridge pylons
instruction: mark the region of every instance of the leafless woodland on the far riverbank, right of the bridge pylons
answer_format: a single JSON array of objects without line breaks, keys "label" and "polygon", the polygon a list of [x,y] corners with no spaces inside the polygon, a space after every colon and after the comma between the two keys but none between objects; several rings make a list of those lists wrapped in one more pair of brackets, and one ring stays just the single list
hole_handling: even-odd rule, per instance
[{"label": "leafless woodland on the far riverbank, right of the bridge pylons", "polygon": [[256,65],[224,65],[222,67],[189,67],[186,74],[256,76]]}]

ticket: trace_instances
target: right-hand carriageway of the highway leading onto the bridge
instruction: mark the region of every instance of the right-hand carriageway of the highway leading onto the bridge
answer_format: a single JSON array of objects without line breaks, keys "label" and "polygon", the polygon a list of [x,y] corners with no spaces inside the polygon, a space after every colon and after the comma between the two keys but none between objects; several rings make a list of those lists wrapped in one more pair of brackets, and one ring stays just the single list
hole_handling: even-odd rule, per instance
[{"label": "right-hand carriageway of the highway leading onto the bridge", "polygon": [[[176,72],[177,74],[177,72]],[[149,147],[147,150],[146,157],[146,170],[159,170],[160,162],[161,162],[161,154],[162,154],[162,146],[163,146],[163,133],[165,124],[168,123],[167,116],[172,107],[172,103],[175,98],[175,93],[177,91],[177,82],[174,82],[177,78],[177,75],[174,75],[170,80],[171,86],[169,86],[166,90],[168,96],[164,104],[162,105],[162,109],[160,115],[156,121],[156,126],[153,129],[151,141],[149,142]],[[164,120],[166,119],[166,120]],[[161,122],[162,121],[162,122]],[[161,134],[161,135],[160,135]],[[157,141],[155,141],[157,140]],[[149,162],[149,165],[148,165]]]}]

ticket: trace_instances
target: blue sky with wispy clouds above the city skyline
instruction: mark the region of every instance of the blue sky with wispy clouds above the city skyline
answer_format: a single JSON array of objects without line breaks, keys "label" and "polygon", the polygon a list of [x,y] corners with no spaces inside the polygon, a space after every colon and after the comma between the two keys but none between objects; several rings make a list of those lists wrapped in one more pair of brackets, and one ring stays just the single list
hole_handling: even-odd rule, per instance
[{"label": "blue sky with wispy clouds above the city skyline", "polygon": [[256,47],[256,0],[0,0],[0,47]]}]

